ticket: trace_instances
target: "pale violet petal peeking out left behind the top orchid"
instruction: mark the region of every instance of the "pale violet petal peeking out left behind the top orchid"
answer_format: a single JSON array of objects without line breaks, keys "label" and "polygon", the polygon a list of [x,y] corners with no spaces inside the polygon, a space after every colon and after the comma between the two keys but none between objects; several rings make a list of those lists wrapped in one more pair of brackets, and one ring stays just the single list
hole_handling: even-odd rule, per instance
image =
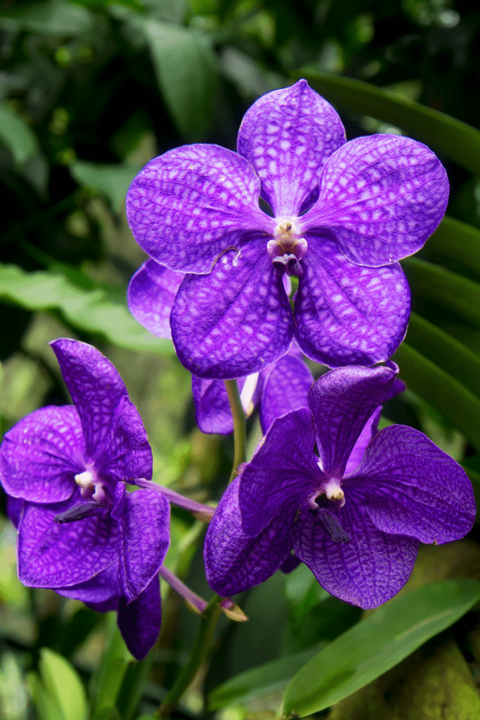
[{"label": "pale violet petal peeking out left behind the top orchid", "polygon": [[147,260],[127,288],[127,302],[137,323],[159,338],[171,338],[170,311],[184,273]]}]

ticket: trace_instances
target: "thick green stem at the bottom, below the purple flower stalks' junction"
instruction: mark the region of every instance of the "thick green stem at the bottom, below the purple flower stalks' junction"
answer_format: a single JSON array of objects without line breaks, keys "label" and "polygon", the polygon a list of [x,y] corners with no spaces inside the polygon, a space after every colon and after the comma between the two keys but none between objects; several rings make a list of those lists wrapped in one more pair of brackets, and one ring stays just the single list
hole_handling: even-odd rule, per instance
[{"label": "thick green stem at the bottom, below the purple flower stalks' junction", "polygon": [[220,613],[222,613],[222,608],[220,608],[219,605],[221,599],[218,595],[214,595],[212,600],[210,600],[201,618],[199,632],[196,636],[194,649],[191,652],[189,662],[187,662],[180,675],[178,675],[173,688],[167,693],[166,698],[158,708],[158,717],[169,718],[171,716],[181,696],[189,687],[191,681],[194,680],[201,665],[207,659],[209,649],[212,647],[215,626],[217,625]]}]

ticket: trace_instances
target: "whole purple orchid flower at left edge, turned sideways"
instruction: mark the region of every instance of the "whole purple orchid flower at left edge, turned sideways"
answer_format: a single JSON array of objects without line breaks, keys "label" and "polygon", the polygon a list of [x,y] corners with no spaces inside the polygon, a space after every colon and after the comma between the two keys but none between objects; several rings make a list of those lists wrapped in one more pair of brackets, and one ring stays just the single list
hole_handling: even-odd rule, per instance
[{"label": "whole purple orchid flower at left edge, turned sideways", "polygon": [[117,370],[86,343],[51,345],[73,405],[36,410],[0,448],[19,578],[117,610],[125,642],[141,659],[160,629],[170,505],[155,490],[126,492],[126,482],[152,477],[152,452]]}]

